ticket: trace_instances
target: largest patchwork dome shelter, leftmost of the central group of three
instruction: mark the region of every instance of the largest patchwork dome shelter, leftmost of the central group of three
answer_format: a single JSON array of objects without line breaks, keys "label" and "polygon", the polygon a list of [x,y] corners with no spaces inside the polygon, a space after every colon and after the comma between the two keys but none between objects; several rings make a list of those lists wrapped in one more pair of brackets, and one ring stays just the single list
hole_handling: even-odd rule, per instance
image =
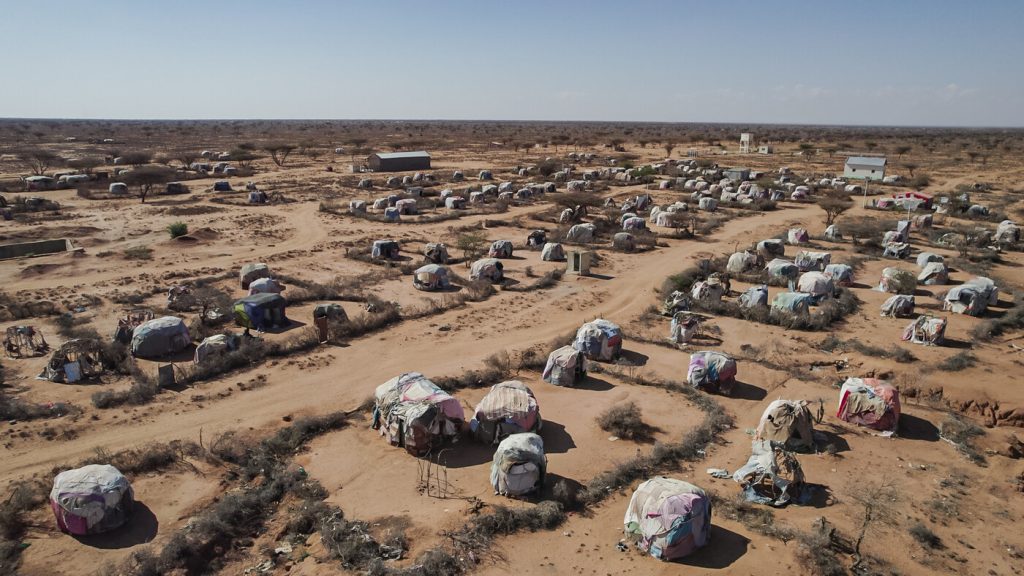
[{"label": "largest patchwork dome shelter, leftmost of the central group of three", "polygon": [[419,372],[377,386],[374,399],[373,428],[417,456],[458,437],[466,419],[459,401]]}]

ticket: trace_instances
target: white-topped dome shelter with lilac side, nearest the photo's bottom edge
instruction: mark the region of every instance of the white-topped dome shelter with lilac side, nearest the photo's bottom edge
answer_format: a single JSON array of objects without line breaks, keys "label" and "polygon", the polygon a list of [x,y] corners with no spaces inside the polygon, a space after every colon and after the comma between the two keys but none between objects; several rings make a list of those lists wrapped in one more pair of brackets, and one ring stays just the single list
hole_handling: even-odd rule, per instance
[{"label": "white-topped dome shelter with lilac side, nearest the photo's bottom edge", "polygon": [[641,550],[678,560],[711,540],[711,498],[688,482],[654,477],[637,487],[623,524],[627,539]]}]

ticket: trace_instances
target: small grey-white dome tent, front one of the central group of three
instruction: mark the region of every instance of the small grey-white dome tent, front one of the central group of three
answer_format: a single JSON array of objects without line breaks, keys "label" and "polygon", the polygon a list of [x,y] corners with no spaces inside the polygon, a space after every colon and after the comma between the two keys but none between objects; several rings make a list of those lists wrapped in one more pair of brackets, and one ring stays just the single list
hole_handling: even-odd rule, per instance
[{"label": "small grey-white dome tent, front one of the central group of three", "polygon": [[495,494],[524,496],[544,488],[548,458],[544,439],[532,433],[514,434],[501,442],[490,463]]}]

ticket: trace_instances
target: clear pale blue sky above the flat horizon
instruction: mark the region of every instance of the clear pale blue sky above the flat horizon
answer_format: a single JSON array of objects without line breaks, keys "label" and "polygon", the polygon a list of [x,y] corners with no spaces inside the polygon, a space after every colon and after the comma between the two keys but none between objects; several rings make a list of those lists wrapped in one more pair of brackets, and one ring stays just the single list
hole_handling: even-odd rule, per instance
[{"label": "clear pale blue sky above the flat horizon", "polygon": [[1021,0],[0,0],[0,117],[1024,126]]}]

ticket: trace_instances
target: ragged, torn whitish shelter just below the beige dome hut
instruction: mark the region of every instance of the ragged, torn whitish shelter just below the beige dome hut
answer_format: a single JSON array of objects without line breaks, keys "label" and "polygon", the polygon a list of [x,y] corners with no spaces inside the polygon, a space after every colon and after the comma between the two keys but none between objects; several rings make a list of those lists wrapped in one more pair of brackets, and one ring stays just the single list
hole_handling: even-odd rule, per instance
[{"label": "ragged, torn whitish shelter just below the beige dome hut", "polygon": [[780,507],[800,497],[804,470],[792,452],[770,440],[755,440],[751,452],[746,464],[732,475],[746,501]]}]

